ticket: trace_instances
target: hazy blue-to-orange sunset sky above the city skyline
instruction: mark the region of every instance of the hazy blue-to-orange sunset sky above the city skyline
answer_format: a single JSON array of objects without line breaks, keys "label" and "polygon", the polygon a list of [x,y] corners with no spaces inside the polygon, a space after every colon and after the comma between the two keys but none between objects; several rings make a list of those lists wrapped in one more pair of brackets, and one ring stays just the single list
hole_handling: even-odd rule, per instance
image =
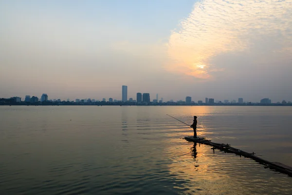
[{"label": "hazy blue-to-orange sunset sky above the city skyline", "polygon": [[292,100],[292,0],[0,0],[0,97]]}]

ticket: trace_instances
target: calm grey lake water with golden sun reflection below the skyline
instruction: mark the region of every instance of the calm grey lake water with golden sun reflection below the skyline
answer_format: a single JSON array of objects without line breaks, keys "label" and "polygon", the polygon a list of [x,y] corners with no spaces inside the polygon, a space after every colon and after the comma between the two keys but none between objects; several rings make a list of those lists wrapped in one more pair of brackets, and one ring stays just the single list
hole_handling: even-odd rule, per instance
[{"label": "calm grey lake water with golden sun reflection below the skyline", "polygon": [[292,194],[292,177],[181,137],[292,166],[292,107],[0,106],[0,195]]}]

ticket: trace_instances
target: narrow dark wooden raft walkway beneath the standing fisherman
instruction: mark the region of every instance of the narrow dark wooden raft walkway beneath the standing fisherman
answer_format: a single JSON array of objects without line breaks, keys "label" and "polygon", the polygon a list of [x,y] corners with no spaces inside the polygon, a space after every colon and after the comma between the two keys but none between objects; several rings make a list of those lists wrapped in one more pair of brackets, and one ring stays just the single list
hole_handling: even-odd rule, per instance
[{"label": "narrow dark wooden raft walkway beneath the standing fisherman", "polygon": [[213,150],[219,149],[221,151],[224,151],[225,153],[226,152],[227,153],[234,153],[234,154],[239,155],[239,156],[251,158],[251,159],[255,160],[256,162],[259,162],[260,164],[263,164],[263,165],[269,167],[272,170],[287,174],[288,176],[292,176],[292,167],[284,165],[284,164],[279,163],[279,162],[270,162],[268,160],[265,160],[265,159],[262,159],[258,156],[255,156],[254,153],[247,153],[247,152],[244,152],[244,151],[239,150],[237,148],[233,148],[229,144],[214,143],[211,140],[207,140],[205,137],[194,138],[192,136],[189,136],[189,137],[184,137],[184,139],[186,139],[187,141],[195,142],[195,143],[201,143],[201,144],[213,146],[213,148],[212,148]]}]

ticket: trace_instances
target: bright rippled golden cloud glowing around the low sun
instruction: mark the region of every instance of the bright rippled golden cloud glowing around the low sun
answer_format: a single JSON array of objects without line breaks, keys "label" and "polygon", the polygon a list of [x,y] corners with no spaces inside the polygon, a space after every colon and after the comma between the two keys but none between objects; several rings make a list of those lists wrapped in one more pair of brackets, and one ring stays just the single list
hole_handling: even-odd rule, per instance
[{"label": "bright rippled golden cloud glowing around the low sun", "polygon": [[217,64],[218,56],[244,55],[262,66],[289,61],[291,52],[292,0],[201,0],[171,33],[166,69],[210,79],[226,68]]}]

